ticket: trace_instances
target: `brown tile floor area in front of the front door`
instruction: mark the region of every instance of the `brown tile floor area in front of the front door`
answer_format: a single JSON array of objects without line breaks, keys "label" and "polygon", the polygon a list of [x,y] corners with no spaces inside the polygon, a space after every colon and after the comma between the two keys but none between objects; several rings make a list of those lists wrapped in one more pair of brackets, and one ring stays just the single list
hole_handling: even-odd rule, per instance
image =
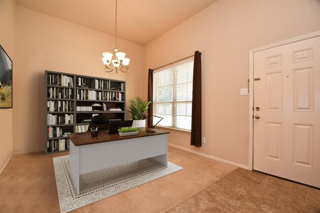
[{"label": "brown tile floor area in front of the front door", "polygon": [[167,213],[320,213],[320,190],[239,168]]}]

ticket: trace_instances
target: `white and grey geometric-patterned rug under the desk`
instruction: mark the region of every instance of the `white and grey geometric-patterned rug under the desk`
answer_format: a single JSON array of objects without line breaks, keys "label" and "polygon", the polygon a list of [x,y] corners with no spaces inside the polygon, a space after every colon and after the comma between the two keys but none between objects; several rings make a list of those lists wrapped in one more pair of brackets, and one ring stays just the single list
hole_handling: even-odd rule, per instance
[{"label": "white and grey geometric-patterned rug under the desk", "polygon": [[151,158],[80,175],[80,194],[69,174],[69,155],[54,157],[61,213],[67,213],[119,192],[183,169],[168,161],[168,167]]}]

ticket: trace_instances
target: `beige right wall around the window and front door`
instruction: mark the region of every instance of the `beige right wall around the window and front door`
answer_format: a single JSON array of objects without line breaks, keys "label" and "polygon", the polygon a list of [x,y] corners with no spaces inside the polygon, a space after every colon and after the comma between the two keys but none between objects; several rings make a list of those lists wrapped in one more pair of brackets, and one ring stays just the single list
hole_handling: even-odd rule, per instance
[{"label": "beige right wall around the window and front door", "polygon": [[145,70],[202,52],[206,143],[195,148],[178,132],[169,143],[247,166],[249,96],[240,88],[248,86],[249,50],[320,30],[319,14],[319,0],[218,1],[146,45]]}]

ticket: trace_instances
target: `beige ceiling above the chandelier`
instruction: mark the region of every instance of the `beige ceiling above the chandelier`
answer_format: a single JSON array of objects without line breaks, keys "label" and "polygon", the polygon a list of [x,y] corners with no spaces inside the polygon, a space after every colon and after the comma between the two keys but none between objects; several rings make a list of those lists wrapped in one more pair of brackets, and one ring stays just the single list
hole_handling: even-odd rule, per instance
[{"label": "beige ceiling above the chandelier", "polygon": [[[118,0],[117,36],[145,45],[216,0]],[[115,0],[16,0],[17,5],[115,35]]]}]

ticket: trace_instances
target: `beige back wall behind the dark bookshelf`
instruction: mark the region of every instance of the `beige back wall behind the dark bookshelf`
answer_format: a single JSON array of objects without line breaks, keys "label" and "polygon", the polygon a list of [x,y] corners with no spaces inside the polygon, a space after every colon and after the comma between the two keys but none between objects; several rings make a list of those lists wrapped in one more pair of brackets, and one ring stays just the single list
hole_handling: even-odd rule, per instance
[{"label": "beige back wall behind the dark bookshelf", "polygon": [[118,39],[118,49],[133,61],[129,73],[118,74],[104,72],[101,61],[113,46],[113,36],[17,6],[13,152],[44,150],[44,70],[125,80],[127,99],[143,91],[143,46]]}]

